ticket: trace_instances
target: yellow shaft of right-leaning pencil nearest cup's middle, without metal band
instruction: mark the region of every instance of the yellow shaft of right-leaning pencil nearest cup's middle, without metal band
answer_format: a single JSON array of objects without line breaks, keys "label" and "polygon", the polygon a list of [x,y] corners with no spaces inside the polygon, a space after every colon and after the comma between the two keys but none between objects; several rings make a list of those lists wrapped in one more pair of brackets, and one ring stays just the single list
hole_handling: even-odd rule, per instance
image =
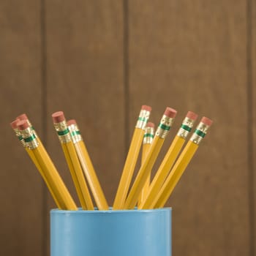
[{"label": "yellow shaft of right-leaning pencil nearest cup's middle, without metal band", "polygon": [[124,207],[124,202],[127,199],[127,193],[129,185],[132,181],[132,175],[135,170],[135,165],[140,153],[140,146],[143,140],[145,131],[143,129],[135,128],[135,132],[132,135],[132,141],[127,154],[127,160],[124,165],[124,170],[121,174],[121,180],[118,184],[118,190],[116,192],[116,198],[113,203],[113,209],[121,209]]}]

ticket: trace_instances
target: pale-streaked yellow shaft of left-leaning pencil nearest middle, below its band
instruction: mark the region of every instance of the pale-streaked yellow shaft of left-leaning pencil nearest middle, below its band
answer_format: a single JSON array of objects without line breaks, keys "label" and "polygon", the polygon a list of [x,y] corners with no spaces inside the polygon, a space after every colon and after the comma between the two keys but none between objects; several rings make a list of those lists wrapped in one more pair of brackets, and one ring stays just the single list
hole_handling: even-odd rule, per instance
[{"label": "pale-streaked yellow shaft of left-leaning pencil nearest middle, below its band", "polygon": [[89,187],[91,189],[91,193],[94,196],[95,203],[97,204],[97,208],[99,210],[108,210],[109,207],[107,200],[105,199],[105,195],[102,191],[102,187],[99,184],[97,174],[94,170],[94,167],[92,165],[86,146],[83,143],[83,140],[80,140],[74,145],[78,154],[78,158],[80,160],[80,165],[83,169],[83,173],[86,176]]}]

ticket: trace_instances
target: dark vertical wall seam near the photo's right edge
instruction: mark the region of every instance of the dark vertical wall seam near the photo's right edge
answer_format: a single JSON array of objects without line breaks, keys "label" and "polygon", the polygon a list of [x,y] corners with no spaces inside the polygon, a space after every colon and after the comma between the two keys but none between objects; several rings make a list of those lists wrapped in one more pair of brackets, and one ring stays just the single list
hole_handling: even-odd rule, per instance
[{"label": "dark vertical wall seam near the photo's right edge", "polygon": [[248,197],[249,197],[249,255],[255,256],[254,210],[254,163],[253,163],[253,102],[252,102],[252,0],[246,1],[246,70],[247,70],[247,150],[248,150]]}]

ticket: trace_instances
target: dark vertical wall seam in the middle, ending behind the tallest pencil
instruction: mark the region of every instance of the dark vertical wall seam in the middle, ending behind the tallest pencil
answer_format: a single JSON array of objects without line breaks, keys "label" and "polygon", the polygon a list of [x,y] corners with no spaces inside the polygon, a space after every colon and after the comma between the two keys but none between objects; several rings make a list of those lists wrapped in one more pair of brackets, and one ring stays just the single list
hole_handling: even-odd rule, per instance
[{"label": "dark vertical wall seam in the middle, ending behind the tallest pencil", "polygon": [[[123,1],[123,64],[124,64],[124,149],[129,149],[129,8]],[[125,157],[125,156],[124,156]]]}]

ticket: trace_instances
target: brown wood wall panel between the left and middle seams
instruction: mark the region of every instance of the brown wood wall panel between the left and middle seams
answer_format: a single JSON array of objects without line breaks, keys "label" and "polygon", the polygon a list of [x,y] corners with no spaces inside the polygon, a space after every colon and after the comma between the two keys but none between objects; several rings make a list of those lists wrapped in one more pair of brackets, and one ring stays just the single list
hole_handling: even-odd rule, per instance
[{"label": "brown wood wall panel between the left and middle seams", "polygon": [[122,3],[46,2],[47,146],[75,196],[50,115],[63,110],[67,118],[77,119],[111,205],[124,164]]}]

